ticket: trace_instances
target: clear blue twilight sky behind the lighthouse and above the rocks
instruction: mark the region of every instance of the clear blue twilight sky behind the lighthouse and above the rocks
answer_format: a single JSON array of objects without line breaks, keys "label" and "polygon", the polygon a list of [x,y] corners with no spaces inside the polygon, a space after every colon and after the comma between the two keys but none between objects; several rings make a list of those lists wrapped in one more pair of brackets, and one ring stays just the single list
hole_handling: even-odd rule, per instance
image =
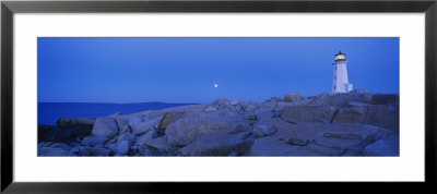
[{"label": "clear blue twilight sky behind the lighthouse and above the rocks", "polygon": [[[263,101],[354,89],[399,94],[399,38],[38,38],[38,101]],[[214,87],[214,84],[218,87]]]}]

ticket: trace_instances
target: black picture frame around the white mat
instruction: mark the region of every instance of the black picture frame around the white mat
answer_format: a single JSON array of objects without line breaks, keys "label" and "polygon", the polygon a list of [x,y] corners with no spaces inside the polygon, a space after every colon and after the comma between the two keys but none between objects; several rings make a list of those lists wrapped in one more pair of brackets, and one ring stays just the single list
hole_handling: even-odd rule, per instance
[{"label": "black picture frame around the white mat", "polygon": [[[142,193],[179,192],[193,183],[13,181],[13,20],[14,13],[120,12],[378,12],[425,13],[425,183],[436,182],[437,1],[436,0],[288,0],[288,1],[2,1],[1,2],[1,191],[7,193]],[[227,186],[210,185],[210,190]],[[233,184],[233,183],[228,183]],[[251,185],[255,189],[263,184]],[[284,184],[276,185],[286,187]],[[309,186],[309,185],[306,185]],[[252,187],[252,189],[253,189]],[[327,186],[331,187],[331,186]],[[366,190],[362,187],[361,190]],[[368,189],[367,189],[368,190]],[[288,190],[290,191],[290,190]]]}]

